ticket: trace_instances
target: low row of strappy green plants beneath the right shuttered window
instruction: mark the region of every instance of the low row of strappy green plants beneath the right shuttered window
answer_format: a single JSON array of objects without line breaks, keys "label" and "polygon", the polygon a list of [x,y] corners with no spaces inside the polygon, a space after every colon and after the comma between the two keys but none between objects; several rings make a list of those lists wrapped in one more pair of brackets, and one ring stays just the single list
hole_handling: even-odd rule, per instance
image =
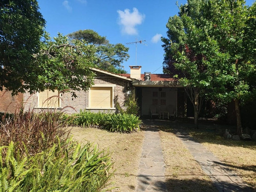
[{"label": "low row of strappy green plants beneath the right shuttered window", "polygon": [[80,111],[79,114],[66,116],[69,125],[79,126],[100,126],[111,132],[132,132],[139,130],[141,120],[133,114],[111,114],[111,113],[92,113]]}]

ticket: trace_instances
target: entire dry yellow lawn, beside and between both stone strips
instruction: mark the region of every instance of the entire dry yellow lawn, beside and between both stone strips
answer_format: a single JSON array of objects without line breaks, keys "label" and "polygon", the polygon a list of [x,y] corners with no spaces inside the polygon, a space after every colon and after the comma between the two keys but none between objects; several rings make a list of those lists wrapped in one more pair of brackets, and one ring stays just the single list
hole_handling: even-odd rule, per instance
[{"label": "entire dry yellow lawn, beside and between both stone strips", "polygon": [[[146,121],[145,121],[146,122]],[[191,124],[170,121],[152,121],[158,129],[166,164],[166,185],[168,191],[217,191],[200,165],[194,160],[175,132],[183,130],[195,137],[223,163],[236,170],[243,180],[256,189],[256,143],[249,141],[224,140],[204,129],[191,129]],[[137,187],[138,164],[141,156],[144,131],[132,134],[110,133],[94,128],[72,127],[71,134],[82,143],[93,142],[100,150],[110,150],[114,161],[114,177],[109,187],[112,191],[135,191]]]}]

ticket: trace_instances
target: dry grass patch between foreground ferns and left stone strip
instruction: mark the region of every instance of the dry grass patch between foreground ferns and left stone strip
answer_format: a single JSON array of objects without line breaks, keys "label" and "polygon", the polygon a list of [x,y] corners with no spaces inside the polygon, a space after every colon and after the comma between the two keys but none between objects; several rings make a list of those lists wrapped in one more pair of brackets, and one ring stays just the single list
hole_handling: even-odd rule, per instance
[{"label": "dry grass patch between foreground ferns and left stone strip", "polygon": [[71,127],[74,140],[93,143],[100,150],[110,151],[114,162],[114,177],[107,188],[111,191],[135,191],[144,132],[111,133],[95,128]]}]

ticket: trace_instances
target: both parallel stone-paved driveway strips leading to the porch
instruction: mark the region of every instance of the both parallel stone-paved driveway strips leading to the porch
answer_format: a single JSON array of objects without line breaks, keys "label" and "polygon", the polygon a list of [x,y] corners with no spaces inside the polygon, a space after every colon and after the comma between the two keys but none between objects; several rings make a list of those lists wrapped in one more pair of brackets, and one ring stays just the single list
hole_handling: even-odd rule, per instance
[{"label": "both parallel stone-paved driveway strips leading to the porch", "polygon": [[[156,127],[151,125],[150,130],[145,131],[139,164],[138,192],[167,192],[164,177],[165,164],[161,141]],[[209,152],[202,144],[185,133],[177,133],[176,135],[182,140],[205,174],[212,180],[218,191],[252,191],[236,173],[232,172],[228,166],[225,166],[224,163]]]}]

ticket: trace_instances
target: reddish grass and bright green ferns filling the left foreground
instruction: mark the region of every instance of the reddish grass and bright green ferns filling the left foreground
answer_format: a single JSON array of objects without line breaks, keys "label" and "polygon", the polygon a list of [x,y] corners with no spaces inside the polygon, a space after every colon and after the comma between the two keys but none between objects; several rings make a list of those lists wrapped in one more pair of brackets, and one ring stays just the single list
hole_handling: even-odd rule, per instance
[{"label": "reddish grass and bright green ferns filling the left foreground", "polygon": [[19,111],[0,126],[0,191],[100,191],[109,153],[72,141],[61,112]]}]

